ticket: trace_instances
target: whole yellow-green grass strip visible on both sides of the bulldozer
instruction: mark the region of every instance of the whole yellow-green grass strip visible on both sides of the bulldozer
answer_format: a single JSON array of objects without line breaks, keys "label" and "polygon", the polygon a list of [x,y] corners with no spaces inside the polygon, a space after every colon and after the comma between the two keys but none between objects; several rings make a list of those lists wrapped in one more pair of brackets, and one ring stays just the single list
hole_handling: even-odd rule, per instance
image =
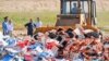
[{"label": "whole yellow-green grass strip visible on both sides of the bulldozer", "polygon": [[[2,23],[4,16],[9,16],[13,23],[15,28],[21,29],[24,28],[24,24],[28,22],[29,19],[33,19],[36,22],[36,17],[40,17],[44,25],[55,25],[57,21],[58,12],[0,12],[0,23]],[[105,27],[109,26],[109,12],[98,12],[97,13],[98,26]]]}]

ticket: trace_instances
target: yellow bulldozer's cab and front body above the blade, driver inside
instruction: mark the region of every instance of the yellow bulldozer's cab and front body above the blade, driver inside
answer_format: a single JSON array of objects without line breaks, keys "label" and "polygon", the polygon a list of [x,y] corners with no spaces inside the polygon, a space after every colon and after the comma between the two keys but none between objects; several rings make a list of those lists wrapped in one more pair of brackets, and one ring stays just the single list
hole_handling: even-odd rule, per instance
[{"label": "yellow bulldozer's cab and front body above the blade, driver inside", "polygon": [[60,0],[56,26],[96,25],[94,0]]}]

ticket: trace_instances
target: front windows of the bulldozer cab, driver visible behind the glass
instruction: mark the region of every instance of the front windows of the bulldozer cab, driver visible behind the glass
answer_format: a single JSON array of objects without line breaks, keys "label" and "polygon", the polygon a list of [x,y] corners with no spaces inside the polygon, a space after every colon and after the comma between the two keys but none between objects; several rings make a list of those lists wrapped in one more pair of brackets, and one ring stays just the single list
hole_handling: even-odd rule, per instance
[{"label": "front windows of the bulldozer cab, driver visible behind the glass", "polygon": [[78,10],[81,10],[81,13],[88,13],[88,3],[87,1],[81,1],[81,8],[78,9],[77,1],[65,1],[63,2],[63,14],[80,14]]}]

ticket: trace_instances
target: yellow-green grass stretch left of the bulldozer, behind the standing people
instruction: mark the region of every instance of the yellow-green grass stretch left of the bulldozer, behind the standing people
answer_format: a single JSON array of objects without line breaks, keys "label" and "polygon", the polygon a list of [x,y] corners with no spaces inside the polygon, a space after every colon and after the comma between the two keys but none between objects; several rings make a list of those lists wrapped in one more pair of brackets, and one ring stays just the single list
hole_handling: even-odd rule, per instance
[{"label": "yellow-green grass stretch left of the bulldozer, behind the standing people", "polygon": [[3,22],[4,16],[9,16],[14,23],[15,28],[24,28],[24,24],[28,22],[29,19],[33,19],[34,22],[37,22],[36,17],[40,17],[44,26],[55,25],[57,20],[57,12],[0,12],[0,23]]}]

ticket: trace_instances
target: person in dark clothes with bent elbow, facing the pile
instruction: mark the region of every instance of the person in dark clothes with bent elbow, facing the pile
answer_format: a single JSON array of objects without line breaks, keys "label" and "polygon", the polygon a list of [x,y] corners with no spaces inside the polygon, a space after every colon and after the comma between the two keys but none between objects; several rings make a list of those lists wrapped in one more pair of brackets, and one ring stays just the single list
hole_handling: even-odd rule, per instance
[{"label": "person in dark clothes with bent elbow, facing the pile", "polygon": [[33,23],[33,20],[29,19],[29,22],[25,24],[25,27],[27,28],[28,36],[33,36],[34,26],[35,26],[35,24]]}]

